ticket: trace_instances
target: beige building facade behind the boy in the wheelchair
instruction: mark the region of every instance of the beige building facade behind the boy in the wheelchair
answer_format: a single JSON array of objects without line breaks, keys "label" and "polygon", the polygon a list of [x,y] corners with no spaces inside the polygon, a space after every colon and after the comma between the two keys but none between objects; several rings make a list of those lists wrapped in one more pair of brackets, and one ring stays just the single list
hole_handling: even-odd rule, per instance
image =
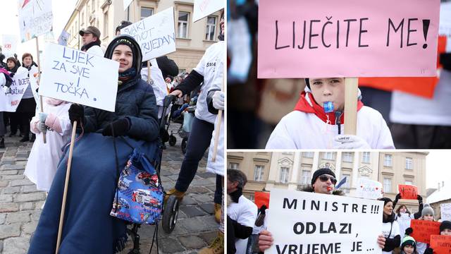
[{"label": "beige building facade behind the boy in the wheelchair", "polygon": [[206,48],[218,42],[221,31],[221,11],[192,23],[193,0],[133,0],[125,9],[123,0],[78,0],[64,30],[70,34],[68,47],[80,49],[82,38],[78,32],[94,25],[101,32],[101,47],[106,49],[116,36],[116,27],[122,20],[135,23],[159,11],[174,7],[177,50],[167,56],[177,63],[179,72],[190,72],[197,66]]}]

